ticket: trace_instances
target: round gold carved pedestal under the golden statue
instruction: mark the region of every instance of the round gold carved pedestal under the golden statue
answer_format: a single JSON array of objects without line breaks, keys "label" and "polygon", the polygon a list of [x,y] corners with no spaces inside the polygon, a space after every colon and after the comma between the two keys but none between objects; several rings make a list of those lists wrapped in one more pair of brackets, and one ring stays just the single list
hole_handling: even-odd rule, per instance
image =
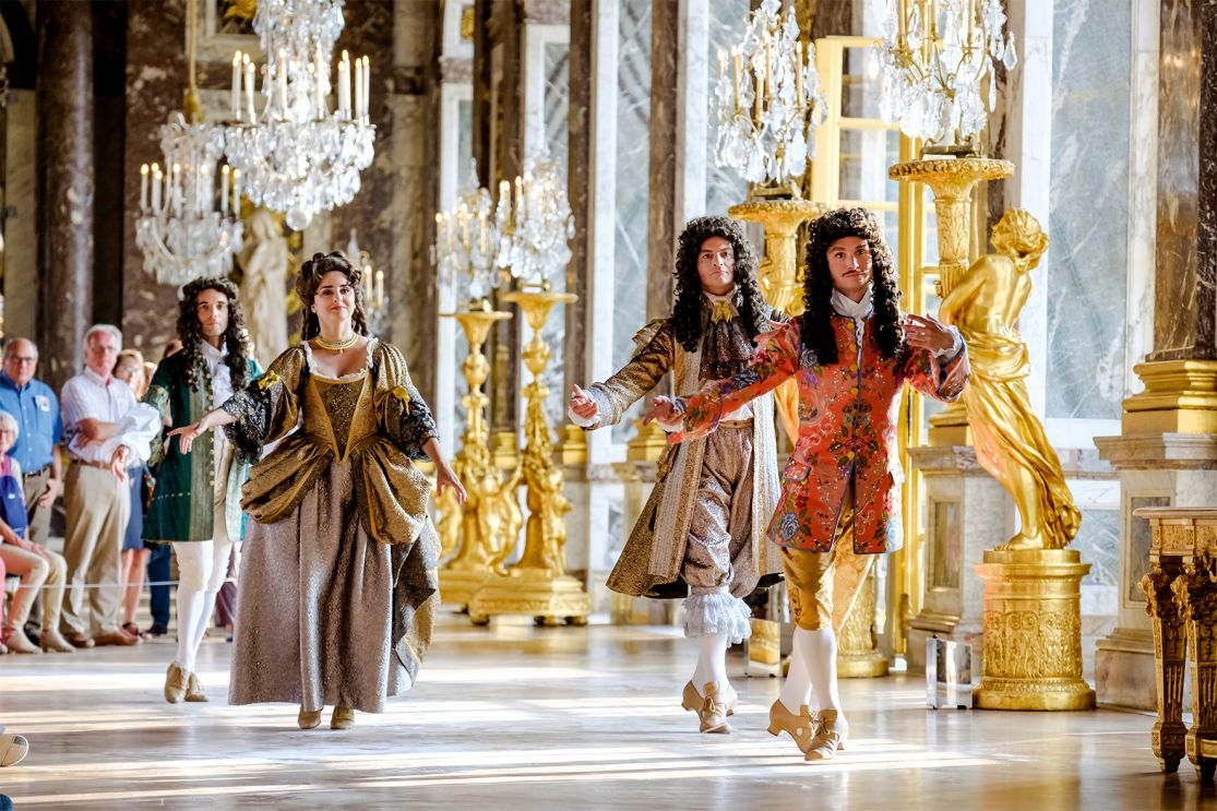
[{"label": "round gold carved pedestal under the golden statue", "polygon": [[985,643],[976,706],[985,710],[1093,710],[1082,678],[1082,577],[1076,549],[988,550]]}]

